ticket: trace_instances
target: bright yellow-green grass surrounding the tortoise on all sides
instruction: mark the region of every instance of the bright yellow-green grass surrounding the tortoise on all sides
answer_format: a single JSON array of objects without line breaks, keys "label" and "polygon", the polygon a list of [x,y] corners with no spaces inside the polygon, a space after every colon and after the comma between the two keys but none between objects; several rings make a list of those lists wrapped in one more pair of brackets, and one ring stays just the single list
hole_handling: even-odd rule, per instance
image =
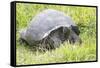
[{"label": "bright yellow-green grass surrounding the tortoise on all sides", "polygon": [[[17,65],[80,62],[96,60],[96,11],[91,7],[17,4],[16,6],[16,60]],[[67,42],[52,51],[40,52],[34,47],[19,43],[19,31],[44,9],[55,9],[70,16],[79,26],[82,44]]]}]

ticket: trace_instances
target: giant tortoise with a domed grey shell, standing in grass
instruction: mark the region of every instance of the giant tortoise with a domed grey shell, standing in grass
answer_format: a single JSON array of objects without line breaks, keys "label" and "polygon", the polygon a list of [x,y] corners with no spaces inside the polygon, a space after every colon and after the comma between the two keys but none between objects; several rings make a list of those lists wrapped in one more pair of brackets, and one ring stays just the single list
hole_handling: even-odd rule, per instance
[{"label": "giant tortoise with a domed grey shell, standing in grass", "polygon": [[35,16],[28,27],[20,32],[20,38],[29,45],[53,49],[64,41],[81,42],[79,29],[63,12],[46,9]]}]

